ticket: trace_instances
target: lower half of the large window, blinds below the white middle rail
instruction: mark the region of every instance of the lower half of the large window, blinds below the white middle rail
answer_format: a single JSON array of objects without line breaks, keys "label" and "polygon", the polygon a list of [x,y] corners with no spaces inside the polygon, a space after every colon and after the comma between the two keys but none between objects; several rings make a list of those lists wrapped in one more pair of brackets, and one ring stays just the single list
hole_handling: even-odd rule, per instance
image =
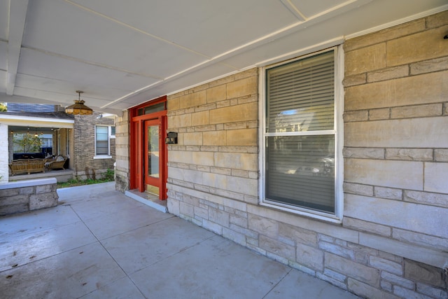
[{"label": "lower half of the large window, blinds below the white middle rail", "polygon": [[334,211],[334,135],[267,137],[266,145],[269,200]]}]

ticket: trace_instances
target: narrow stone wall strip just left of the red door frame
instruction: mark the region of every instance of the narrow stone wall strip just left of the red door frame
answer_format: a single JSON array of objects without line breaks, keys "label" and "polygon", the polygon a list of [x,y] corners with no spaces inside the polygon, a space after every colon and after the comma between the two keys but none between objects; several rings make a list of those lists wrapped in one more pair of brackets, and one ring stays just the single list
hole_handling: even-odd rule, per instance
[{"label": "narrow stone wall strip just left of the red door frame", "polygon": [[117,117],[116,123],[116,190],[125,192],[129,190],[130,183],[130,130],[129,112],[123,111],[123,115]]}]

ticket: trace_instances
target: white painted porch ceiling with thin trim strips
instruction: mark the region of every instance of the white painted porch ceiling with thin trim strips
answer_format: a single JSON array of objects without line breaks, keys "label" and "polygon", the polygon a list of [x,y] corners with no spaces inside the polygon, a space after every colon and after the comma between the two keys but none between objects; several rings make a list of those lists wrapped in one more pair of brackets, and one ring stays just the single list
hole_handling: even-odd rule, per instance
[{"label": "white painted porch ceiling with thin trim strips", "polygon": [[447,0],[0,0],[0,102],[149,99],[448,9]]}]

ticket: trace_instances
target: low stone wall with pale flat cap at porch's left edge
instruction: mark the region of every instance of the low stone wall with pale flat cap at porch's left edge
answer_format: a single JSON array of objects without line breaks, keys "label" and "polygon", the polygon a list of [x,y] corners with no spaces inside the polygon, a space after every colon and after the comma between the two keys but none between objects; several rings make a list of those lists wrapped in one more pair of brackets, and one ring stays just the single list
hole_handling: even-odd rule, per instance
[{"label": "low stone wall with pale flat cap at porch's left edge", "polygon": [[0,185],[0,216],[57,206],[57,180],[36,179]]}]

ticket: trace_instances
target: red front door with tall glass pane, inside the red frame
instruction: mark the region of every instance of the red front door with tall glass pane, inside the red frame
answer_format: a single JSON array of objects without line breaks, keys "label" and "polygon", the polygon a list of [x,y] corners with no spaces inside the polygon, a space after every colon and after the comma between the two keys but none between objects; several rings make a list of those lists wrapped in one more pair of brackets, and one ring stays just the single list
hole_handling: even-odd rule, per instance
[{"label": "red front door with tall glass pane, inside the red frame", "polygon": [[145,154],[144,154],[144,173],[146,192],[154,195],[160,195],[160,186],[162,185],[160,176],[160,120],[145,121]]}]

